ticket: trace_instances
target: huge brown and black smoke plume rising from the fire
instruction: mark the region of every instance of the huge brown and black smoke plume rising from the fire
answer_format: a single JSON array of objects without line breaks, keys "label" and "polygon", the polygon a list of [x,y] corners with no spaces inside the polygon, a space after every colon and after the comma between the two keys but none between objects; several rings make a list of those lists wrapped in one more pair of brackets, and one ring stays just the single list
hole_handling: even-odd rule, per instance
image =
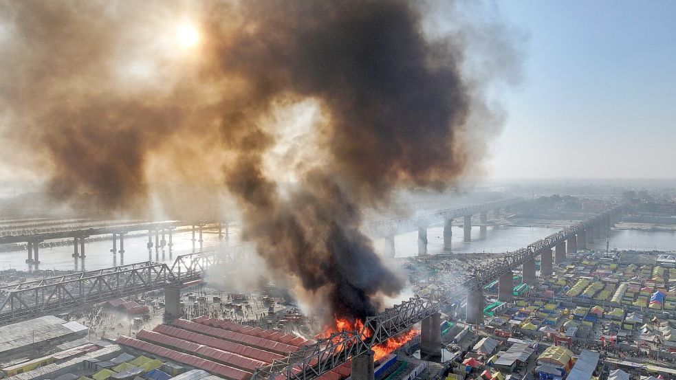
[{"label": "huge brown and black smoke plume rising from the fire", "polygon": [[[456,26],[430,34],[441,11]],[[327,317],[375,313],[404,286],[360,232],[364,210],[476,175],[501,122],[487,83],[509,44],[455,7],[2,1],[0,14],[11,165],[58,199],[89,192],[127,213],[153,197],[184,217],[221,183],[243,238]],[[472,41],[501,58],[475,65]],[[204,188],[153,191],[164,182]]]}]

